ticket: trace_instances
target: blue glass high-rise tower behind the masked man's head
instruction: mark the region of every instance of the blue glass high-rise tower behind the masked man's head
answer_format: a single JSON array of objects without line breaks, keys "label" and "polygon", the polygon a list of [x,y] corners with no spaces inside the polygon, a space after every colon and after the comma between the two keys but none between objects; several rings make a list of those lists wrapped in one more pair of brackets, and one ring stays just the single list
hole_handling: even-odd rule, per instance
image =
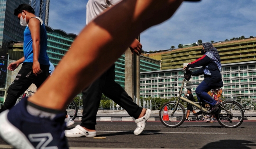
[{"label": "blue glass high-rise tower behind the masked man's head", "polygon": [[29,5],[34,8],[35,15],[48,25],[50,0],[29,0]]}]

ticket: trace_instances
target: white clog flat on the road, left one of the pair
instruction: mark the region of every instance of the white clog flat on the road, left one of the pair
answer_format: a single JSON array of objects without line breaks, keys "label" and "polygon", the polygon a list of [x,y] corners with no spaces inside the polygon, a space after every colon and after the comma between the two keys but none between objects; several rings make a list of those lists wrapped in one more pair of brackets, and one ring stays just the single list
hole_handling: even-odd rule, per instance
[{"label": "white clog flat on the road, left one of the pair", "polygon": [[71,130],[65,130],[65,136],[66,137],[71,137],[71,138],[78,138],[78,137],[95,137],[96,132],[89,132],[85,130],[82,126],[76,125],[73,129]]}]

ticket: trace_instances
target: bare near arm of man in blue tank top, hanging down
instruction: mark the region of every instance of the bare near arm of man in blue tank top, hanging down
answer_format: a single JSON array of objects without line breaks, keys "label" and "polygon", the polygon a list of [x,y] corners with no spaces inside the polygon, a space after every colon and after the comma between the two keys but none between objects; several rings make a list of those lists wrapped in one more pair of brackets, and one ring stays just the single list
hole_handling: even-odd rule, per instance
[{"label": "bare near arm of man in blue tank top, hanging down", "polygon": [[40,63],[38,61],[40,54],[40,26],[41,22],[37,18],[31,18],[29,20],[29,30],[31,32],[32,38],[32,48],[33,48],[33,73],[37,76],[37,74],[41,73]]}]

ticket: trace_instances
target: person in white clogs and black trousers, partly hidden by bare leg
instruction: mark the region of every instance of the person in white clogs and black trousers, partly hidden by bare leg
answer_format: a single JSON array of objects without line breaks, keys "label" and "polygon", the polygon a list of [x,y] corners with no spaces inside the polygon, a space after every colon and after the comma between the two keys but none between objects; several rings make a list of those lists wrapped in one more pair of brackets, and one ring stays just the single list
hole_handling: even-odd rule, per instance
[{"label": "person in white clogs and black trousers, partly hidden by bare leg", "polygon": [[[121,0],[89,0],[86,5],[86,23],[88,24],[94,17],[97,17],[101,12],[119,1]],[[142,45],[135,39],[129,48],[132,52],[135,51],[139,55]],[[96,115],[100,106],[102,93],[119,104],[130,116],[135,118],[135,123],[137,124],[137,128],[134,131],[135,135],[139,135],[144,130],[146,120],[149,118],[151,111],[150,109],[141,108],[134,103],[127,92],[115,82],[115,65],[112,65],[88,89],[82,91],[82,123],[76,125],[71,130],[66,130],[66,137],[96,136]],[[67,126],[70,124],[73,124],[73,122],[68,121]]]}]

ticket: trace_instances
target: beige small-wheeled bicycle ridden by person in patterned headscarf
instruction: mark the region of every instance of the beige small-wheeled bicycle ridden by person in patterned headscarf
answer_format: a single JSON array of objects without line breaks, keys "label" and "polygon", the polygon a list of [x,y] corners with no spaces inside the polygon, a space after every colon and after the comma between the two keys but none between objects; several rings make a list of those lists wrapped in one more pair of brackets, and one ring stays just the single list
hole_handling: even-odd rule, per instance
[{"label": "beige small-wheeled bicycle ridden by person in patterned headscarf", "polygon": [[[185,74],[186,70],[183,70],[183,74]],[[177,77],[180,77],[181,74],[177,75]],[[177,81],[176,79],[175,81]],[[188,79],[189,80],[189,79]],[[162,124],[164,124],[167,127],[178,127],[181,124],[183,124],[184,119],[186,117],[186,110],[184,106],[180,103],[180,101],[185,101],[192,106],[201,109],[202,114],[204,118],[209,118],[215,114],[217,121],[219,124],[223,127],[226,128],[236,128],[240,124],[243,123],[244,120],[244,108],[234,100],[226,100],[222,101],[221,104],[219,105],[218,109],[216,109],[213,112],[210,112],[209,108],[203,108],[201,105],[205,104],[204,102],[192,102],[189,99],[185,99],[182,97],[182,91],[183,91],[183,86],[185,83],[185,78],[183,78],[183,83],[181,85],[181,88],[179,90],[179,95],[176,97],[176,100],[174,101],[169,101],[166,102],[159,110],[159,118]],[[174,85],[173,85],[174,86]],[[219,88],[214,89],[214,93],[218,90]],[[168,115],[168,117],[167,117]]]}]

